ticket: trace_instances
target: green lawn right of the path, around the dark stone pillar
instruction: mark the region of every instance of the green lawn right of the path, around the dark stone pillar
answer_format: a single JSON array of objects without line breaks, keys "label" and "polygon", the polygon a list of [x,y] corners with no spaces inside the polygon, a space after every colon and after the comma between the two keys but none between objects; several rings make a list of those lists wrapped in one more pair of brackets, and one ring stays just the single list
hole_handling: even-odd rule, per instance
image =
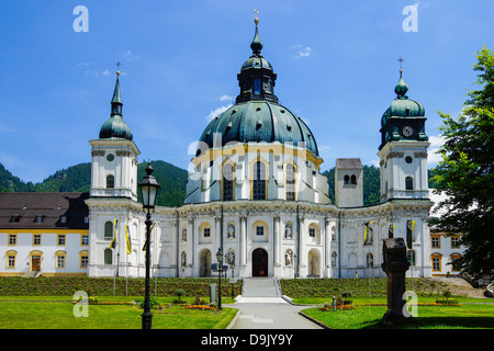
[{"label": "green lawn right of the path, around the dark stone pillar", "polygon": [[[359,306],[352,310],[321,312],[318,307],[302,312],[333,329],[388,328],[381,320],[385,306]],[[492,329],[494,305],[417,306],[417,316],[406,329]]]}]

